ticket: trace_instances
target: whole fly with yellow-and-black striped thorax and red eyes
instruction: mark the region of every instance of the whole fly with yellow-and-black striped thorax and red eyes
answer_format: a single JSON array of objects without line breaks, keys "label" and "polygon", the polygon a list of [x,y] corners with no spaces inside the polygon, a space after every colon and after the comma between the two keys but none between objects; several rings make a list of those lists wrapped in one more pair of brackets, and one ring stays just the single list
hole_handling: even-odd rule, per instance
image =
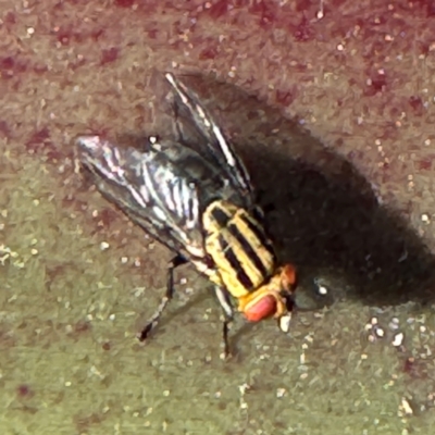
[{"label": "whole fly with yellow-and-black striped thorax and red eyes", "polygon": [[100,136],[77,138],[78,159],[99,191],[150,236],[170,248],[166,293],[139,334],[145,340],[174,293],[174,269],[191,262],[213,284],[228,324],[275,318],[288,332],[296,272],[278,265],[256,203],[249,174],[194,91],[173,74],[169,84],[175,137],[119,147]]}]

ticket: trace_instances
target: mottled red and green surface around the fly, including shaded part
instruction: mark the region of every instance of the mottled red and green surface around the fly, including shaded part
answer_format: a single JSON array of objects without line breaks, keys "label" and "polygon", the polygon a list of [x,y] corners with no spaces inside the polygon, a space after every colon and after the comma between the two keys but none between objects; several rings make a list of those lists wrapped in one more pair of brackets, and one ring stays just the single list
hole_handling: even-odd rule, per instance
[{"label": "mottled red and green surface around the fly, including shaded part", "polygon": [[[2,434],[433,433],[432,1],[3,0],[0,47]],[[75,167],[77,134],[162,134],[154,69],[191,75],[310,308],[237,322],[228,362],[191,266],[137,343],[170,253]]]}]

